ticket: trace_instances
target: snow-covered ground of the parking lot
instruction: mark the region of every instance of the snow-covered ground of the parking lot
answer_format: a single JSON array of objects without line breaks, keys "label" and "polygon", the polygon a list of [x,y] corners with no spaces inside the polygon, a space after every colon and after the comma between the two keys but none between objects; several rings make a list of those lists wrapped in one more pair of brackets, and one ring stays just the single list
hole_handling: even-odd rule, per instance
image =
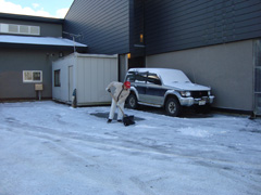
[{"label": "snow-covered ground of the parking lot", "polygon": [[0,195],[260,195],[261,120],[0,104]]}]

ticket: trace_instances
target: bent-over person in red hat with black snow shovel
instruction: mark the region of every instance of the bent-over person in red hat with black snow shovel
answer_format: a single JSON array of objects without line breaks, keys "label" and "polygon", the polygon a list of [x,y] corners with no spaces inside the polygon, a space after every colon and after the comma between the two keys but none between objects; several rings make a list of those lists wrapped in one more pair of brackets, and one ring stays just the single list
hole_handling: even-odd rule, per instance
[{"label": "bent-over person in red hat with black snow shovel", "polygon": [[[112,87],[115,88],[115,91],[113,94],[111,93]],[[108,118],[108,123],[110,123],[112,121],[112,119],[114,118],[114,113],[115,113],[116,106],[119,107],[119,110],[117,110],[117,121],[119,122],[123,121],[123,123],[125,126],[135,123],[134,116],[126,116],[124,114],[124,104],[125,104],[125,100],[127,99],[127,96],[129,94],[129,88],[130,88],[129,81],[125,81],[124,83],[113,81],[107,87],[105,90],[112,96],[112,103],[111,103],[111,109],[110,109],[110,114],[109,114],[109,118]]]}]

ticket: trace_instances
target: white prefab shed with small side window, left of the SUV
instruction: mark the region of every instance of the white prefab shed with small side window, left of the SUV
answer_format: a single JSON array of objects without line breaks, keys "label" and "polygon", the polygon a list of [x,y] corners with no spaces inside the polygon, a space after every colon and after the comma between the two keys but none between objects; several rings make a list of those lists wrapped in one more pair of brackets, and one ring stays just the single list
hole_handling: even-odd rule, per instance
[{"label": "white prefab shed with small side window, left of the SUV", "polygon": [[72,104],[76,90],[76,105],[99,105],[111,102],[105,91],[117,80],[117,55],[72,53],[52,63],[52,98]]}]

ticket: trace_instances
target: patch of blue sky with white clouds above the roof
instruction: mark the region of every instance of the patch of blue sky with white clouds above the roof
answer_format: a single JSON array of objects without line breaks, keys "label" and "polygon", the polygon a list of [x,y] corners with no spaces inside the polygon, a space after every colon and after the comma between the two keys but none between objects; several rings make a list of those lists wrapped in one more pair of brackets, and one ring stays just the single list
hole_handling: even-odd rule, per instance
[{"label": "patch of blue sky with white clouds above the roof", "polygon": [[0,0],[0,13],[64,18],[74,0]]}]

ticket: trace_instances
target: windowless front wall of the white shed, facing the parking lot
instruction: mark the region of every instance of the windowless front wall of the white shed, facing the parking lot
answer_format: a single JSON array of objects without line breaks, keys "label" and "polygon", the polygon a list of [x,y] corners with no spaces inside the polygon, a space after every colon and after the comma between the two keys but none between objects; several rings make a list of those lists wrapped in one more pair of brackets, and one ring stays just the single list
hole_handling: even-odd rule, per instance
[{"label": "windowless front wall of the white shed, facing the parking lot", "polygon": [[110,103],[105,88],[117,81],[117,56],[89,55],[77,57],[77,102],[78,104]]}]

